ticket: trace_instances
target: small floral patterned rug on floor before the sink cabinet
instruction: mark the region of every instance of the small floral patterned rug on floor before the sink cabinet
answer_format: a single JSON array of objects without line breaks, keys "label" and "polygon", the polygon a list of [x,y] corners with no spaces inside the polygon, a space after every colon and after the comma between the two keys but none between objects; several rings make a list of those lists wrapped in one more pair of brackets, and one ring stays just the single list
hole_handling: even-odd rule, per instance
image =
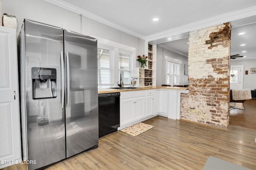
[{"label": "small floral patterned rug on floor before the sink cabinet", "polygon": [[124,129],[121,129],[120,131],[127,133],[132,136],[140,135],[141,133],[153,128],[154,126],[148,125],[146,123],[136,123],[135,125],[131,125],[129,127],[126,127]]}]

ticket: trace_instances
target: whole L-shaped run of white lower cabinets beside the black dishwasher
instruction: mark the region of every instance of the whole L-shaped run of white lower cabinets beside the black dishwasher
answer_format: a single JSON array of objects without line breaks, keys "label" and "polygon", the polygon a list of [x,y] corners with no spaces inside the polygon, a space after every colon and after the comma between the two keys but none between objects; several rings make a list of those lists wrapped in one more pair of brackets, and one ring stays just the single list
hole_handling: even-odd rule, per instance
[{"label": "whole L-shaped run of white lower cabinets beside the black dishwasher", "polygon": [[[178,91],[180,91],[178,93]],[[180,93],[188,90],[137,90],[120,92],[120,128],[145,121],[156,115],[179,119]]]}]

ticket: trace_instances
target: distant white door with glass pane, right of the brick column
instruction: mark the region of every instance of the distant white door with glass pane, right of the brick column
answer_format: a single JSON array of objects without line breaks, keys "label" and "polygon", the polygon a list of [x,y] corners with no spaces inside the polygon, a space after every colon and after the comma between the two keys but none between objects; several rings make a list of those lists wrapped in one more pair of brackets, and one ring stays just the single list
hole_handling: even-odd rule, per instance
[{"label": "distant white door with glass pane, right of the brick column", "polygon": [[230,66],[230,89],[243,88],[243,72],[243,65]]}]

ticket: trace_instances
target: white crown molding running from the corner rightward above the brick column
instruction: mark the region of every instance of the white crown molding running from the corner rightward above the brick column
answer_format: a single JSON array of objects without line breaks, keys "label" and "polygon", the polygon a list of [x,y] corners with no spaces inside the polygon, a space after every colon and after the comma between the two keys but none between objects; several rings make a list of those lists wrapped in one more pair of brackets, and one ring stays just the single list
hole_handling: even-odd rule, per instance
[{"label": "white crown molding running from the corner rightward above the brick column", "polygon": [[235,12],[230,12],[226,14],[222,14],[219,16],[215,16],[212,18],[208,18],[206,20],[201,20],[198,22],[190,23],[187,25],[183,25],[180,27],[176,27],[174,29],[169,29],[160,33],[156,33],[153,35],[146,36],[145,40],[146,41],[154,41],[156,39],[161,39],[164,37],[170,37],[173,35],[178,35],[180,33],[185,33],[189,31],[194,31],[197,29],[202,29],[205,27],[213,26],[213,25],[219,25],[222,23],[234,21],[234,20],[239,20],[242,18],[250,17],[250,16],[255,16],[256,15],[256,6],[252,6],[250,8],[245,8],[242,10],[238,10]]}]

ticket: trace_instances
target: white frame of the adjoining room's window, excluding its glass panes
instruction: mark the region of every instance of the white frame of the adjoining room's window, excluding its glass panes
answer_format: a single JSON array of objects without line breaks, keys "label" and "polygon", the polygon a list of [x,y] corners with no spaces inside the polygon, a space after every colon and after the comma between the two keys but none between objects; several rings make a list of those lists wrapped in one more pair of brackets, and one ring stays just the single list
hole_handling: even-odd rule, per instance
[{"label": "white frame of the adjoining room's window, excluding its glass panes", "polygon": [[[164,60],[165,60],[165,84],[169,84],[171,86],[173,85],[179,85],[180,84],[180,68],[181,68],[181,64],[182,61],[178,60],[178,59],[174,59],[172,57],[168,57],[168,56],[164,56]],[[170,82],[167,82],[167,76],[168,76],[168,72],[167,72],[167,67],[168,64],[172,64],[172,70],[171,70],[171,74],[170,74]],[[175,74],[175,67],[178,66],[178,72]],[[174,76],[177,76],[177,83],[174,82]]]}]

